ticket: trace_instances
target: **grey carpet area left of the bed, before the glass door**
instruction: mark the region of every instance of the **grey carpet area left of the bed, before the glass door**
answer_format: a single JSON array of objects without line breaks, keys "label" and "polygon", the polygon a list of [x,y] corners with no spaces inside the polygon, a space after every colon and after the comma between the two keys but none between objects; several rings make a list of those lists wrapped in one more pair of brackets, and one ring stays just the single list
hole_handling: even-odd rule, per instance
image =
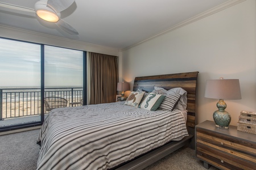
[{"label": "grey carpet area left of the bed, before the glass door", "polygon": [[35,170],[40,146],[39,129],[0,136],[1,170]]}]

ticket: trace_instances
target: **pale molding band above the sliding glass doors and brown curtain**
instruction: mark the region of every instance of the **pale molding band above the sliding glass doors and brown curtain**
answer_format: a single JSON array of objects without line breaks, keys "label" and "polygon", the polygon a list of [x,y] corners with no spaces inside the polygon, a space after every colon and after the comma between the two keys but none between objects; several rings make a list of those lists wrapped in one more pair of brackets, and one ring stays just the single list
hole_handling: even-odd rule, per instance
[{"label": "pale molding band above the sliding glass doors and brown curtain", "polygon": [[96,53],[98,52],[98,53],[105,53],[105,54],[107,53],[112,55],[114,54],[115,56],[119,53],[119,49],[109,48],[107,46],[90,44],[88,42],[82,42],[82,41],[67,39],[64,37],[47,35],[44,33],[28,31],[26,29],[14,28],[14,27],[9,27],[1,24],[0,24],[0,30],[1,30],[0,37],[5,37],[9,39],[35,42],[38,44],[60,46],[60,45],[56,45],[53,42],[53,41],[58,41],[58,42],[63,42],[61,47],[64,47],[64,48],[85,50],[86,52],[96,52]]}]

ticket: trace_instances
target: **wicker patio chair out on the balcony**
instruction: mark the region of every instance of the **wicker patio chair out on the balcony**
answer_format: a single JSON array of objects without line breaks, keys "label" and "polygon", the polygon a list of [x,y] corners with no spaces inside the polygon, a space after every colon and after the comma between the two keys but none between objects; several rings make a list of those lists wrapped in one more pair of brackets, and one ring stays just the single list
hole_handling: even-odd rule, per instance
[{"label": "wicker patio chair out on the balcony", "polygon": [[68,100],[63,97],[45,97],[44,98],[44,106],[46,107],[46,111],[51,111],[55,108],[64,108],[67,107]]}]

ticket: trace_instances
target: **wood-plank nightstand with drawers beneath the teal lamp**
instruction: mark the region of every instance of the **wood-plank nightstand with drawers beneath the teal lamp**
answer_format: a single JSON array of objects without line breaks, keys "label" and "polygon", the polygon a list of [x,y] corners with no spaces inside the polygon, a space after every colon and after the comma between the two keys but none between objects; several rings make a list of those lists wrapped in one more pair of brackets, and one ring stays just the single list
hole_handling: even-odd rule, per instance
[{"label": "wood-plank nightstand with drawers beneath the teal lamp", "polygon": [[256,169],[256,135],[215,126],[213,121],[196,125],[196,156],[220,169]]}]

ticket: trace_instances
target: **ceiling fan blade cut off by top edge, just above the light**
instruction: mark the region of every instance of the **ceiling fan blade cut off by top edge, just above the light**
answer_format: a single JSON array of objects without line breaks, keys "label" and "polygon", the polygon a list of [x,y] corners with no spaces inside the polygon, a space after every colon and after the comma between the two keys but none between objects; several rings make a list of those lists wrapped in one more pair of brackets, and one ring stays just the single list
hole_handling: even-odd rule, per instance
[{"label": "ceiling fan blade cut off by top edge, just above the light", "polygon": [[71,6],[73,2],[75,0],[48,0],[47,6],[59,13]]}]

